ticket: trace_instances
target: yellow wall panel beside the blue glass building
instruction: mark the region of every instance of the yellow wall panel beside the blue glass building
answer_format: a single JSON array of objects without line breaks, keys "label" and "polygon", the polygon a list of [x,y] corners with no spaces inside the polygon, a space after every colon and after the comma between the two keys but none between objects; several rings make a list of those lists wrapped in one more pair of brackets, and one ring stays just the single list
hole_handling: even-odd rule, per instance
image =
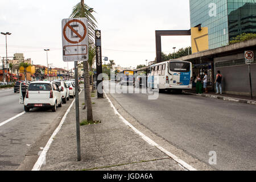
[{"label": "yellow wall panel beside the blue glass building", "polygon": [[192,53],[209,49],[208,27],[202,27],[201,31],[198,27],[191,28],[191,46]]}]

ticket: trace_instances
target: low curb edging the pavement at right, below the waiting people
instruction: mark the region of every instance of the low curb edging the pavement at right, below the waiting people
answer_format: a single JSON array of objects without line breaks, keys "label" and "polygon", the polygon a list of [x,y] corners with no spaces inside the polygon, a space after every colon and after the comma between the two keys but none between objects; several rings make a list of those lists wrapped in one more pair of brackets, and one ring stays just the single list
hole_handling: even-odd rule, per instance
[{"label": "low curb edging the pavement at right, below the waiting people", "polygon": [[256,101],[245,100],[245,99],[241,99],[241,98],[225,97],[225,96],[215,96],[215,95],[211,95],[211,94],[196,94],[196,93],[188,93],[188,92],[183,92],[183,93],[191,94],[191,95],[194,95],[194,96],[217,98],[217,99],[221,99],[221,100],[224,100],[224,101],[233,101],[233,102],[240,102],[240,103],[243,103],[243,104],[256,105]]}]

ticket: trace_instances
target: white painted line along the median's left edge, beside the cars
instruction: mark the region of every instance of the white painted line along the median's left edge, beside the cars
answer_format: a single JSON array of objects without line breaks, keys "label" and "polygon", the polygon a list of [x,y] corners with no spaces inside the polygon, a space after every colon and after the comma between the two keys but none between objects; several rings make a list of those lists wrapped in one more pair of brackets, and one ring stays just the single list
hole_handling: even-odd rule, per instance
[{"label": "white painted line along the median's left edge, beside the cars", "polygon": [[[82,89],[81,89],[80,93],[81,92],[82,92]],[[73,106],[75,101],[76,101],[76,99],[74,99],[73,102],[71,103],[71,105],[68,107],[68,110],[66,111],[66,113],[63,116],[63,118],[61,119],[59,126],[55,129],[55,131],[53,132],[51,138],[49,138],[46,146],[44,147],[43,151],[41,151],[41,154],[40,154],[38,160],[36,161],[36,163],[34,164],[34,167],[32,168],[31,171],[40,171],[40,168],[42,167],[42,165],[46,164],[46,154],[47,154],[47,151],[49,150],[49,147],[52,144],[53,138],[60,131],[61,126],[63,125],[63,123],[64,123],[64,121],[65,121],[65,119],[66,119],[66,117],[67,117],[67,115],[68,115],[68,113],[69,113],[69,111],[70,111],[70,109]]]}]

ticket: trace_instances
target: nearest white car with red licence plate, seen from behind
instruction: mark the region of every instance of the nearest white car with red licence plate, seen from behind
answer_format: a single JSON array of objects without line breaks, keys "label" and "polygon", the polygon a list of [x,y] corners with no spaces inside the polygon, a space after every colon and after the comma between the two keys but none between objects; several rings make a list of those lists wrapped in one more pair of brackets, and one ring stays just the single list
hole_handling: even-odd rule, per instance
[{"label": "nearest white car with red licence plate, seen from behind", "polygon": [[28,85],[24,98],[26,112],[34,107],[48,107],[53,112],[56,107],[61,107],[62,99],[59,86],[54,81],[34,81]]}]

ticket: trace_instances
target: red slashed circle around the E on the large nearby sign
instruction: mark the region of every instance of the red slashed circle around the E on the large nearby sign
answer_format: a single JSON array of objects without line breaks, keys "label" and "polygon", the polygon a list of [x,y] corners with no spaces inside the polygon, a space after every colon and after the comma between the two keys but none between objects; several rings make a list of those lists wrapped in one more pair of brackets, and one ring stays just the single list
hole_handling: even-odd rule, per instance
[{"label": "red slashed circle around the E on the large nearby sign", "polygon": [[[78,22],[78,23],[81,23],[81,24],[82,24],[82,27],[84,27],[84,35],[81,36],[81,35],[79,34],[79,32],[77,32],[77,31],[70,25],[72,22]],[[66,35],[66,29],[67,29],[67,27],[70,28],[71,31],[72,31],[74,34],[76,34],[76,35],[80,38],[80,40],[78,40],[78,41],[72,41],[72,40],[68,39],[68,38],[67,38],[67,35]],[[64,28],[63,28],[63,36],[64,36],[64,38],[65,38],[69,43],[72,43],[72,44],[77,44],[77,43],[82,42],[82,40],[84,40],[86,34],[87,34],[87,29],[86,29],[85,24],[84,24],[82,21],[78,20],[78,19],[70,20],[68,23],[65,24],[65,26],[64,26]]]}]

